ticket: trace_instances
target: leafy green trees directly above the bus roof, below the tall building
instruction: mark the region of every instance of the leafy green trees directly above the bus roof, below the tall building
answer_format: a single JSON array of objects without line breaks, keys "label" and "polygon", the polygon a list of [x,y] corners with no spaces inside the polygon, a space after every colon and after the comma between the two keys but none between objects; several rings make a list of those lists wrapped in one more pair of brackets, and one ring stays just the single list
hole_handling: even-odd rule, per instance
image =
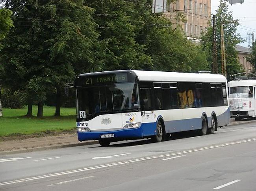
[{"label": "leafy green trees directly above the bus roof, below the tall building", "polygon": [[88,0],[86,4],[96,10],[100,39],[106,42],[104,70],[208,68],[203,51],[179,28],[173,29],[169,19],[151,13],[152,1]]}]

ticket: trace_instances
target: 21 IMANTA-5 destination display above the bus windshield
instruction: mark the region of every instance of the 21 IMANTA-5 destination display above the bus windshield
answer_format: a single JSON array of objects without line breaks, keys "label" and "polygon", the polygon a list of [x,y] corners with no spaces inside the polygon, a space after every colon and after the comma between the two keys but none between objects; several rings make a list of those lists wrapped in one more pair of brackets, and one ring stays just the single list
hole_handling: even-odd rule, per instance
[{"label": "21 IMANTA-5 destination display above the bus windshield", "polygon": [[100,76],[87,76],[83,78],[83,85],[97,85],[105,83],[128,82],[127,73],[116,73]]}]

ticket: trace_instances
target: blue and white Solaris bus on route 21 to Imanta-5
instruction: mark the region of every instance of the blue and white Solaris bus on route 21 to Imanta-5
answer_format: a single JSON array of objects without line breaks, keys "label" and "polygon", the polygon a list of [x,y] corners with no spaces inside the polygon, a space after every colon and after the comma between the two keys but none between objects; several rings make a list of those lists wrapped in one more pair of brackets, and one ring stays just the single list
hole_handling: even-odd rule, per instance
[{"label": "blue and white Solaris bus on route 21 to Imanta-5", "polygon": [[81,74],[74,86],[79,141],[161,142],[182,131],[212,134],[230,122],[223,75],[105,71]]}]

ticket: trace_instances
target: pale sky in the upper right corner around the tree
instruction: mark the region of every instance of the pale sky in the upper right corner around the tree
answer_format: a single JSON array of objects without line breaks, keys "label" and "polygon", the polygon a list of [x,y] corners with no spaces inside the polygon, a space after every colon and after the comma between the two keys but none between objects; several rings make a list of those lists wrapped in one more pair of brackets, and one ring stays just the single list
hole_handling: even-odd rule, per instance
[{"label": "pale sky in the upper right corner around the tree", "polygon": [[[211,14],[215,13],[218,9],[219,0],[211,0]],[[240,33],[241,37],[246,40],[247,33],[254,33],[254,41],[256,39],[256,0],[244,0],[242,4],[228,3],[228,9],[232,11],[234,19],[239,19],[239,26],[237,27],[237,33]],[[248,42],[239,44],[247,47]]]}]

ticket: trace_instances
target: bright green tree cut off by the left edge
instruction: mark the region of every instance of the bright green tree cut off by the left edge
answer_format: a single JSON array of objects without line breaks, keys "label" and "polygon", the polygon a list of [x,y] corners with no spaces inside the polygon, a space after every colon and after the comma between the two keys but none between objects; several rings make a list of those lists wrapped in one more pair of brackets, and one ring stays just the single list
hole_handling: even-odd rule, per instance
[{"label": "bright green tree cut off by the left edge", "polygon": [[[6,37],[9,29],[13,27],[11,14],[12,12],[8,9],[5,9],[5,8],[0,9],[0,52],[2,49],[1,41]],[[3,66],[2,66],[2,63],[0,63],[0,74],[3,74],[3,73],[4,73]],[[2,84],[2,79],[0,78],[0,117],[2,116],[1,84]]]}]

